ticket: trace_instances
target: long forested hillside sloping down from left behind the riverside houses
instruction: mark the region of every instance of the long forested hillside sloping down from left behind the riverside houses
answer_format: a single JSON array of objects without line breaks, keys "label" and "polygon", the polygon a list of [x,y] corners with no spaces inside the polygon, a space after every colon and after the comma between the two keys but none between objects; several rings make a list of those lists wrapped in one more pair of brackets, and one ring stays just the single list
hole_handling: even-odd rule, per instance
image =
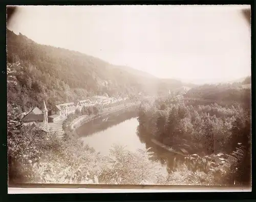
[{"label": "long forested hillside sloping down from left behind the riverside houses", "polygon": [[7,61],[10,69],[15,68],[18,80],[17,85],[8,85],[8,102],[16,103],[23,111],[40,107],[43,98],[52,106],[105,92],[110,96],[156,94],[183,85],[79,52],[37,44],[9,30]]}]

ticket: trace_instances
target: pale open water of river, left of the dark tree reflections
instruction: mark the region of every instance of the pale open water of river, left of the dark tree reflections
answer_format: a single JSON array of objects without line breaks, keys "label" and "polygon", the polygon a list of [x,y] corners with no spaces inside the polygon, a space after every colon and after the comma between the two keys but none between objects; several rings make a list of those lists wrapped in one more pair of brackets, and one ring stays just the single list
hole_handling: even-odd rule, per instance
[{"label": "pale open water of river, left of the dark tree reflections", "polygon": [[102,155],[109,155],[113,144],[136,152],[138,148],[145,148],[145,143],[137,136],[138,124],[136,111],[121,111],[84,123],[76,132],[84,144]]}]

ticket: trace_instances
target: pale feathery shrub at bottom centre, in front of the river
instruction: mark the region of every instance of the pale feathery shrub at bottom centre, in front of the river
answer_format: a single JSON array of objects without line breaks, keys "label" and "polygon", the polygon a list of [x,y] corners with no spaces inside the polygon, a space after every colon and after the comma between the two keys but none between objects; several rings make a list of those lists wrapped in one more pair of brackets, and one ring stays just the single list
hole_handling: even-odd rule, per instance
[{"label": "pale feathery shrub at bottom centre, in front of the river", "polygon": [[125,147],[113,145],[110,154],[99,175],[103,184],[158,184],[167,177],[160,174],[156,162],[148,159],[148,149],[138,149],[133,153]]}]

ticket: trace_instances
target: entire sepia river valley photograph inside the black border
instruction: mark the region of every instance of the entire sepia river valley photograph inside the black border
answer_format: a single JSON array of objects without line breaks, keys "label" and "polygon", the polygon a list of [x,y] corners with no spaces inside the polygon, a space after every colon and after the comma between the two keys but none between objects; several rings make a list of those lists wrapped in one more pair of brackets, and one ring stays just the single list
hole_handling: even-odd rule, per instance
[{"label": "entire sepia river valley photograph inside the black border", "polygon": [[251,188],[250,20],[250,5],[7,6],[8,185]]}]

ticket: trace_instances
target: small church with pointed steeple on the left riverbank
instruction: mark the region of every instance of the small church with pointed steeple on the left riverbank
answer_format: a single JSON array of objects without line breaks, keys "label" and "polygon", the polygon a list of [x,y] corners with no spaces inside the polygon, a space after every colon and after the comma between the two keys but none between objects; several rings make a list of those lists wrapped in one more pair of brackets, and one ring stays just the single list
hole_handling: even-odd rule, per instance
[{"label": "small church with pointed steeple on the left riverbank", "polygon": [[40,110],[38,107],[32,109],[27,115],[22,118],[24,125],[31,125],[34,130],[49,133],[48,130],[48,110],[44,100],[43,108]]}]

